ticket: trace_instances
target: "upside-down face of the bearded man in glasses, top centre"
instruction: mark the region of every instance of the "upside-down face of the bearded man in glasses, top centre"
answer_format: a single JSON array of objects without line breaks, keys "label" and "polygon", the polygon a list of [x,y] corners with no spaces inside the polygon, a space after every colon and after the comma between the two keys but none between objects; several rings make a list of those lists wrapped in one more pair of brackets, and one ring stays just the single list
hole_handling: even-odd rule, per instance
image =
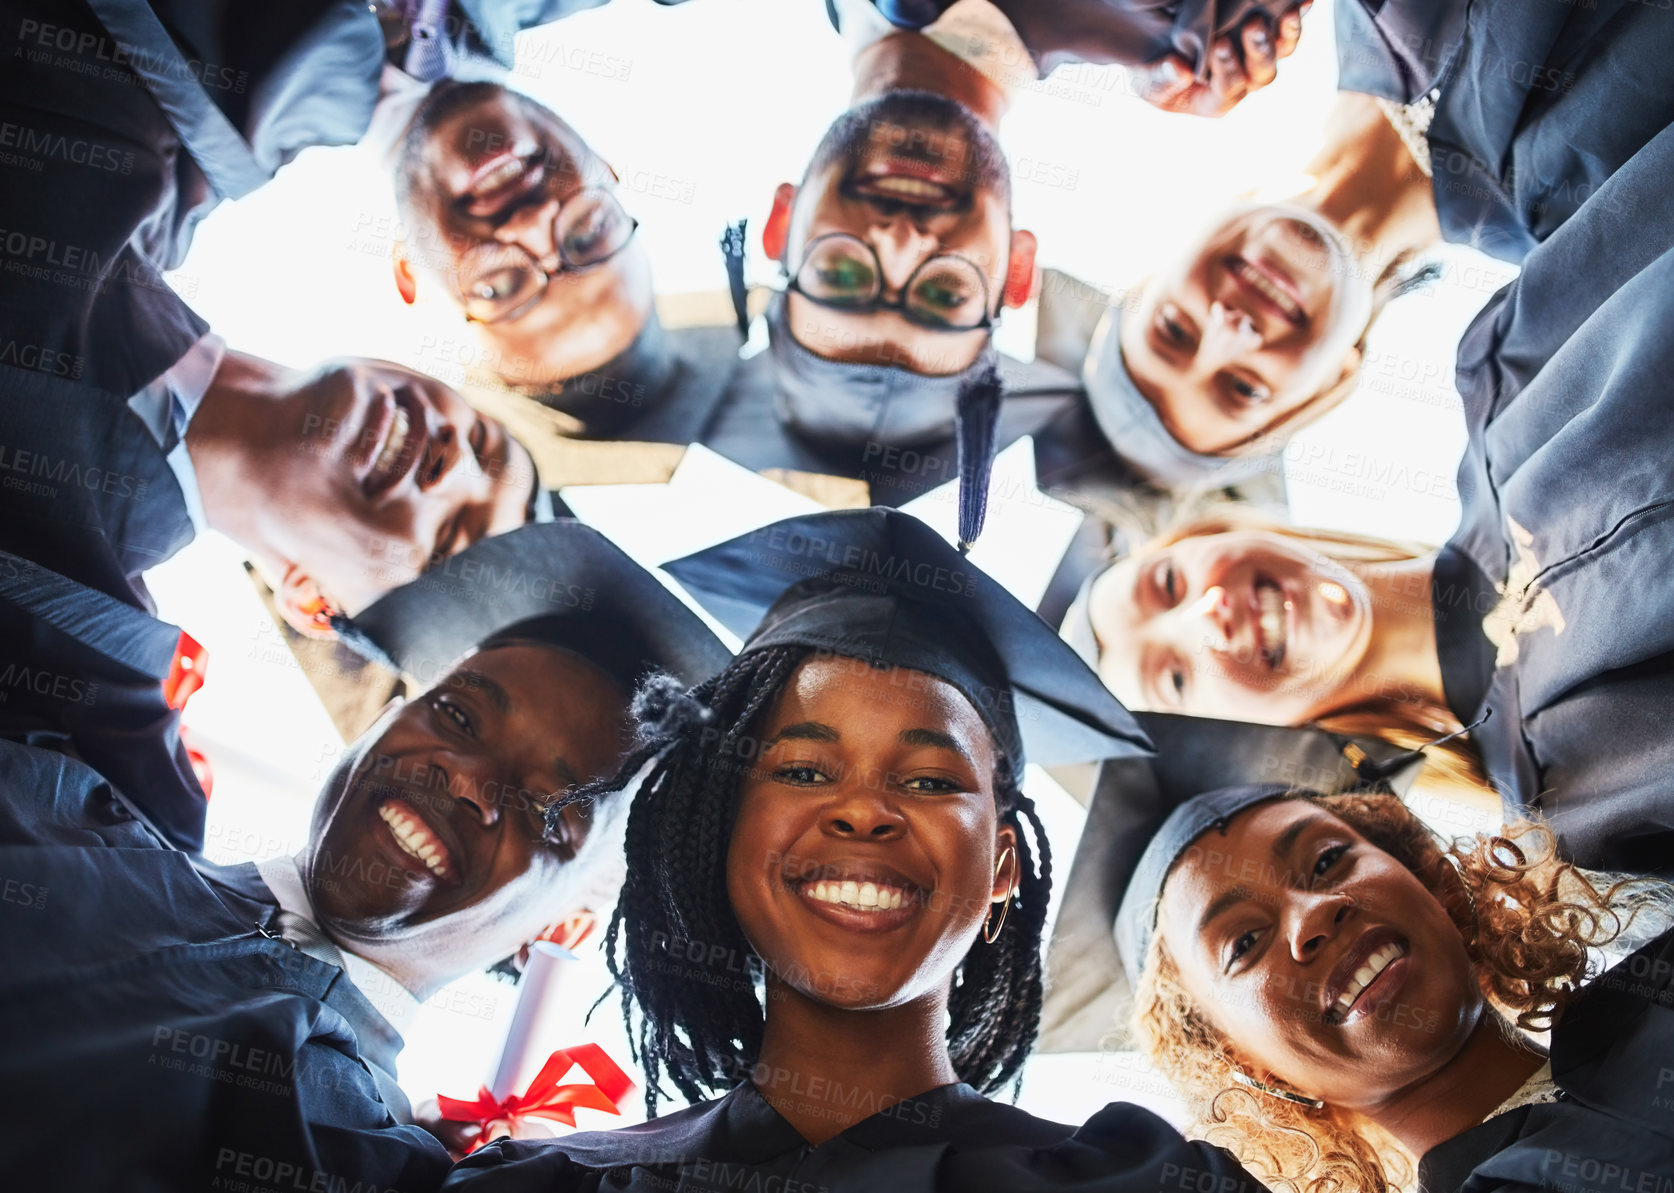
[{"label": "upside-down face of the bearded man in glasses, top centre", "polygon": [[[877,261],[844,253],[822,264],[827,274],[864,269],[872,278],[882,266],[882,298],[897,300],[919,271],[914,301],[944,311],[942,321],[971,326],[981,311],[998,313],[1014,248],[1009,171],[994,136],[959,104],[891,92],[850,109],[827,131],[793,196],[782,246],[793,274],[810,246],[829,251],[832,241],[822,238],[844,233],[870,246]],[[1033,246],[1019,234],[1024,239]],[[964,263],[921,271],[941,254]],[[988,343],[983,330],[931,330],[894,310],[839,311],[795,293],[787,318],[797,341],[819,356],[926,375],[968,368]]]}]

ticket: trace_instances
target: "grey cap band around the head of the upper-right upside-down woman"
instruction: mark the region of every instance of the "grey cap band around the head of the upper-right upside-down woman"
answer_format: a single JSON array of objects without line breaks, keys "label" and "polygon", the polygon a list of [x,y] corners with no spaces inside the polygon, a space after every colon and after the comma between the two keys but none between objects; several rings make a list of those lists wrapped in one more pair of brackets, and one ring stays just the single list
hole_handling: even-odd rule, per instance
[{"label": "grey cap band around the head of the upper-right upside-down woman", "polygon": [[1105,313],[1081,365],[1088,407],[1110,450],[1163,489],[1224,489],[1279,467],[1279,440],[1242,455],[1204,455],[1180,443],[1128,373],[1122,316],[1122,306]]}]

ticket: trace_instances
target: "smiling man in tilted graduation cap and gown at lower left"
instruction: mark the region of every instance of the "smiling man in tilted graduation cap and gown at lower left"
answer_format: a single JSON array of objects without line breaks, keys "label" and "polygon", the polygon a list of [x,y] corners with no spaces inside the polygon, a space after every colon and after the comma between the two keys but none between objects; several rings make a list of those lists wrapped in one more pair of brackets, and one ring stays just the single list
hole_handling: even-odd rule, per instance
[{"label": "smiling man in tilted graduation cap and gown at lower left", "polygon": [[[350,746],[295,857],[209,865],[74,743],[0,741],[0,1078],[27,1091],[0,1128],[8,1186],[440,1183],[393,1078],[405,1019],[609,873],[614,803],[549,813],[556,795],[614,773],[650,669],[696,683],[727,659],[588,527],[467,556],[358,622],[439,678]],[[102,1146],[65,1146],[69,1106]]]}]

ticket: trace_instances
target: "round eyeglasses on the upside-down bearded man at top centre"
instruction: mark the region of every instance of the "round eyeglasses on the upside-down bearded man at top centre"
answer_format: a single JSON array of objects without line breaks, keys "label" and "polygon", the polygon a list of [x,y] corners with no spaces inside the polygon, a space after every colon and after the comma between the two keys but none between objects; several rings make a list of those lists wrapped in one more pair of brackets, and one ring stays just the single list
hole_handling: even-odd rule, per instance
[{"label": "round eyeglasses on the upside-down bearded man at top centre", "polygon": [[865,315],[897,311],[932,331],[984,331],[994,326],[988,278],[969,258],[941,253],[919,264],[894,300],[884,298],[884,263],[877,249],[849,233],[827,233],[809,244],[785,289],[810,303]]}]

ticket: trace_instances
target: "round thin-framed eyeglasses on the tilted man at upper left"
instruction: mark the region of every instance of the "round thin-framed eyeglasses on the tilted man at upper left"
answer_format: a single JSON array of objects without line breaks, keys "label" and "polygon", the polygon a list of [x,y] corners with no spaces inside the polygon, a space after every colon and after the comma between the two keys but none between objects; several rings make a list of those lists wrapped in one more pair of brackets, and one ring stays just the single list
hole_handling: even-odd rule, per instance
[{"label": "round thin-framed eyeglasses on the tilted man at upper left", "polygon": [[576,192],[552,219],[557,268],[544,269],[522,244],[485,241],[459,261],[459,296],[475,323],[516,320],[534,306],[564,269],[594,269],[628,248],[639,221],[601,187]]}]

